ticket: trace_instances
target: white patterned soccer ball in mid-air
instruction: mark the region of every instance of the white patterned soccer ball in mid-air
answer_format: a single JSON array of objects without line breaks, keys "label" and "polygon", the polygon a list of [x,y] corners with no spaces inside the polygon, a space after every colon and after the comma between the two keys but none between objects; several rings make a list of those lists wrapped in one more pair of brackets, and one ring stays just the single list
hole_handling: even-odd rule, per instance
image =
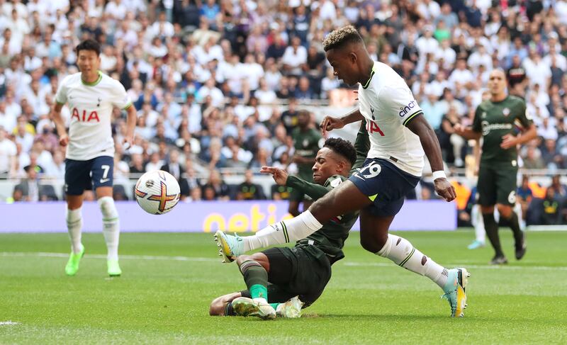
[{"label": "white patterned soccer ball in mid-air", "polygon": [[179,183],[172,174],[157,170],[143,174],[136,182],[137,204],[152,215],[162,215],[177,205],[180,196]]}]

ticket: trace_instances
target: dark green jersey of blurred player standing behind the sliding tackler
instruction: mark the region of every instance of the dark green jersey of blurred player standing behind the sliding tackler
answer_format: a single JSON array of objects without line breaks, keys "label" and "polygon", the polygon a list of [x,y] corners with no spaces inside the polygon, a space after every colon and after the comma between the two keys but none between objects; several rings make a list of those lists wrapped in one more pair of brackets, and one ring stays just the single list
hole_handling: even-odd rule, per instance
[{"label": "dark green jersey of blurred player standing behind the sliding tackler", "polygon": [[293,147],[296,149],[295,154],[303,158],[311,158],[313,162],[308,164],[298,165],[298,176],[305,181],[313,181],[313,164],[315,164],[315,156],[322,147],[323,139],[318,130],[309,128],[302,131],[301,128],[296,128],[291,132],[293,138]]}]

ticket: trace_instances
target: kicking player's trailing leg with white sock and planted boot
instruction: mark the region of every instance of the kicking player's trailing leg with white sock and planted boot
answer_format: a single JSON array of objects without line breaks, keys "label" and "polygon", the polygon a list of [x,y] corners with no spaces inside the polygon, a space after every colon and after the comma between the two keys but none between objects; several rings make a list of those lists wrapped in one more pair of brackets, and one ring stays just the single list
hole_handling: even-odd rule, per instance
[{"label": "kicking player's trailing leg with white sock and planted boot", "polygon": [[[398,208],[397,206],[394,207]],[[451,306],[451,316],[463,316],[466,307],[466,284],[469,276],[466,269],[444,268],[430,257],[422,254],[419,249],[413,247],[407,239],[388,234],[388,228],[393,218],[393,215],[374,215],[369,208],[361,210],[360,241],[362,247],[376,255],[390,259],[408,271],[430,278],[443,289],[444,298],[449,300]]]}]

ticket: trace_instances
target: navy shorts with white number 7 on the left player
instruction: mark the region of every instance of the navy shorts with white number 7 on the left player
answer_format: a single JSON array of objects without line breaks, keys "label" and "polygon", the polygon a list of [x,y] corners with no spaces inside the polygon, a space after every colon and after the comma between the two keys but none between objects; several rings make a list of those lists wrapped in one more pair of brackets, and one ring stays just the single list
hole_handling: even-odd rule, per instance
[{"label": "navy shorts with white number 7 on the left player", "polygon": [[101,156],[88,161],[65,159],[65,193],[80,196],[85,189],[112,187],[114,158]]}]

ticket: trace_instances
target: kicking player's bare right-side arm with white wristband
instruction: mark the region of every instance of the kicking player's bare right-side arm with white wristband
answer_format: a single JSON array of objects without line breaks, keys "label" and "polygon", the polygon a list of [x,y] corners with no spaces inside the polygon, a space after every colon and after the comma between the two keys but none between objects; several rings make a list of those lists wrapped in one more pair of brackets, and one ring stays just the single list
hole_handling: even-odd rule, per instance
[{"label": "kicking player's bare right-side arm with white wristband", "polygon": [[[408,123],[408,128],[420,137],[420,142],[425,151],[427,159],[429,159],[432,171],[443,171],[443,159],[441,155],[441,147],[437,135],[431,128],[430,124],[422,115],[417,115]],[[439,177],[433,181],[435,191],[447,201],[456,198],[455,188],[444,177]]]}]

